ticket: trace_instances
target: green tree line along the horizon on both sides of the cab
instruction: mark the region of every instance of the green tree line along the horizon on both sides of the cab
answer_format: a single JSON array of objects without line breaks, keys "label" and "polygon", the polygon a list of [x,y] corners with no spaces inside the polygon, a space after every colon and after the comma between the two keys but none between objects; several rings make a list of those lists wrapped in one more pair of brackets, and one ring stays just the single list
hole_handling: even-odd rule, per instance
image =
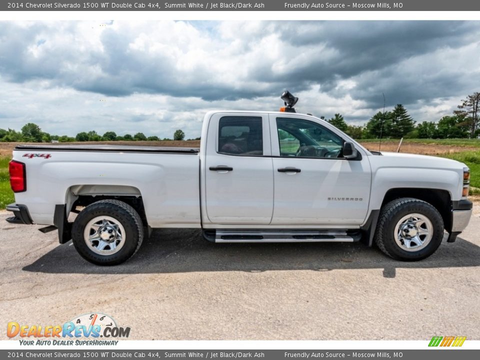
[{"label": "green tree line along the horizon on both sides of the cab", "polygon": [[[408,114],[402,104],[397,104],[393,109],[382,112],[378,111],[364,125],[349,125],[343,116],[336,113],[330,119],[325,119],[353,138],[472,138],[480,135],[479,108],[480,92],[468,95],[457,110],[452,114],[443,116],[434,121],[422,121],[416,123]],[[185,133],[177,129],[173,133],[173,140],[183,140]],[[188,139],[199,140],[200,138]],[[25,124],[20,131],[0,128],[0,141],[2,142],[71,142],[71,141],[158,141],[171,140],[160,139],[158,136],[146,136],[143,132],[134,135],[117,135],[114,131],[106,131],[103,135],[96,131],[78,132],[75,137],[67,135],[51,135],[44,132],[32,122]]]}]

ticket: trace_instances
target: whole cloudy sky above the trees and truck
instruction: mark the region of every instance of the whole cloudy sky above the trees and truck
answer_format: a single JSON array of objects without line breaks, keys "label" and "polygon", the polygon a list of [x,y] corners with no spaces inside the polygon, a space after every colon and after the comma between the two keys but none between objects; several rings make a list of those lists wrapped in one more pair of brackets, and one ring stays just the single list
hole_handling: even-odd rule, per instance
[{"label": "whole cloudy sky above the trees and truck", "polygon": [[480,91],[480,21],[0,22],[0,128],[200,134],[211,109],[437,121]]}]

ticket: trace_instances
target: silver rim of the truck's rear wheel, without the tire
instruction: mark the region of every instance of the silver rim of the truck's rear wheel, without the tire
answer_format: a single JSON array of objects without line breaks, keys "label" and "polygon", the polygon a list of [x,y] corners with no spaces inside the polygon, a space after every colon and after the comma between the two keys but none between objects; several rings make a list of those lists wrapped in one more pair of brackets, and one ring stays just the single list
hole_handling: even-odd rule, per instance
[{"label": "silver rim of the truck's rear wheel, without the tire", "polygon": [[111,216],[92,218],[83,230],[83,239],[90,250],[98,255],[112,255],[125,243],[125,229]]}]

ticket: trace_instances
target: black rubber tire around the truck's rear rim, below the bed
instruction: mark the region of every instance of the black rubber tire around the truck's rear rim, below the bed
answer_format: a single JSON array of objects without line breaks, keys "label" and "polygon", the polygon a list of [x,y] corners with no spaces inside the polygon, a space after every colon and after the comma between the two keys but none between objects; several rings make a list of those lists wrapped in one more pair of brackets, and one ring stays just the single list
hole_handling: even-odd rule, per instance
[{"label": "black rubber tire around the truck's rear rim, below the bed", "polygon": [[[85,226],[97,217],[108,216],[123,227],[122,246],[112,254],[98,254],[86,243],[83,232]],[[88,226],[90,227],[90,226]],[[121,232],[121,231],[119,231]],[[95,230],[93,230],[93,234]],[[130,205],[119,200],[100,200],[86,206],[73,222],[72,242],[75,249],[85,260],[96,265],[117,265],[126,261],[138,250],[143,240],[143,224],[140,216]],[[120,247],[120,246],[118,246]],[[111,249],[111,251],[114,251]]]}]

